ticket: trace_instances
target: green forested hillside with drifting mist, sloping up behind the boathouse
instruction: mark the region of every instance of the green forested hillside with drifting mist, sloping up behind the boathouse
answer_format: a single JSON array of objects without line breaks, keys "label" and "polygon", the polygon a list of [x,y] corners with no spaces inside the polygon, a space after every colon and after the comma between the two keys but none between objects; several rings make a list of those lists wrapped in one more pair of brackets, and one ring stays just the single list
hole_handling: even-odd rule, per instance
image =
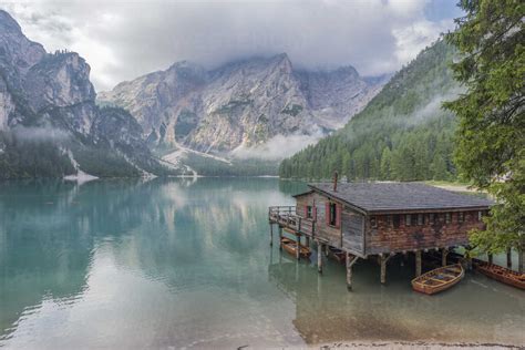
[{"label": "green forested hillside with drifting mist, sloping up behind the boathouse", "polygon": [[285,178],[453,179],[454,116],[441,107],[460,92],[443,41],[423,50],[343,128],[282,161]]}]

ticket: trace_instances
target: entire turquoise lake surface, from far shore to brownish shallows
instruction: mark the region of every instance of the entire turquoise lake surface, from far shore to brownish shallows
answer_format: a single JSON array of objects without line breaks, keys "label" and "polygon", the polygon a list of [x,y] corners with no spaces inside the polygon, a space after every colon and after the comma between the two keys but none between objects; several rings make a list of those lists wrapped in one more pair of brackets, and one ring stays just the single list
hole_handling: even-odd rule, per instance
[{"label": "entire turquoise lake surface, from far shore to brownish shallows", "polygon": [[[429,297],[413,266],[297,262],[269,247],[275,178],[0,183],[0,347],[144,349],[336,341],[525,346],[525,292],[469,272]],[[312,246],[315,249],[315,247]],[[403,265],[403,266],[402,266]]]}]

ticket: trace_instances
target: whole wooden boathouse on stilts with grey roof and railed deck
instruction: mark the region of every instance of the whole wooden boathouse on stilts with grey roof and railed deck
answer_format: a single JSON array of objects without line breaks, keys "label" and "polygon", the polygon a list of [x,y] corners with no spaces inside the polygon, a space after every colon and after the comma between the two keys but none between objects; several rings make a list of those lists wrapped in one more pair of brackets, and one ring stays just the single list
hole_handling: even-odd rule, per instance
[{"label": "whole wooden boathouse on stilts with grey roof and railed deck", "polygon": [[[469,245],[469,231],[483,228],[488,199],[429,186],[422,183],[309,184],[295,195],[295,206],[269,207],[270,245],[274,225],[279,243],[282,230],[296,241],[318,246],[318,270],[329,247],[346,253],[347,287],[352,287],[352,266],[374,257],[387,280],[387,262],[397,254],[415,256],[415,275],[422,271],[422,253],[441,253],[446,265],[450,249]],[[301,241],[302,238],[302,241]],[[299,249],[297,249],[299,251]],[[297,259],[299,259],[299,254]]]}]

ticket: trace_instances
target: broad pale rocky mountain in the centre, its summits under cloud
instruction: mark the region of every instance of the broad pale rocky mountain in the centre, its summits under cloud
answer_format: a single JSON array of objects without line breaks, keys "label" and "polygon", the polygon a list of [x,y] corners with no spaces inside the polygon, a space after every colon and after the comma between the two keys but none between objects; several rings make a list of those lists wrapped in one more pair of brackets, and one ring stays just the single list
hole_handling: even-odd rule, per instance
[{"label": "broad pale rocky mountain in the centre, its summits under cloud", "polygon": [[277,135],[319,136],[341,127],[383,84],[384,79],[369,81],[352,66],[296,70],[282,53],[213,70],[178,62],[122,82],[101,93],[99,102],[128,110],[157,150],[228,157]]}]

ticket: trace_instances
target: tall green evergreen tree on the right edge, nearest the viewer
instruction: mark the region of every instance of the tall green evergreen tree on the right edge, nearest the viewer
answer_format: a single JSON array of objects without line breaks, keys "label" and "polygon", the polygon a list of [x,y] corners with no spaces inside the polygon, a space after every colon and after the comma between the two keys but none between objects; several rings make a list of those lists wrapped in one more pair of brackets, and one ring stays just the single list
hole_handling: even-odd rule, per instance
[{"label": "tall green evergreen tree on the right edge, nearest the viewer", "polygon": [[461,54],[453,64],[467,91],[445,106],[460,120],[455,163],[462,176],[497,198],[473,233],[482,250],[525,249],[525,2],[463,0],[466,16],[446,39]]}]

